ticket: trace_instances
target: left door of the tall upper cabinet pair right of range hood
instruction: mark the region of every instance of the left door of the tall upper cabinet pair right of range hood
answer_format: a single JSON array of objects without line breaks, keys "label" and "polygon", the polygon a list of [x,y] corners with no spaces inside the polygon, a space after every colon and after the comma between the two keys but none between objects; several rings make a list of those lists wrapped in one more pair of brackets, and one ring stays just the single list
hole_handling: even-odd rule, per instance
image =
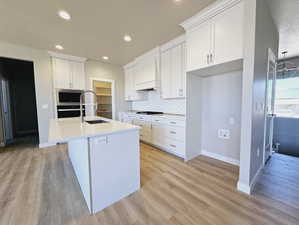
[{"label": "left door of the tall upper cabinet pair right of range hood", "polygon": [[172,49],[169,49],[161,55],[161,91],[162,98],[172,97]]}]

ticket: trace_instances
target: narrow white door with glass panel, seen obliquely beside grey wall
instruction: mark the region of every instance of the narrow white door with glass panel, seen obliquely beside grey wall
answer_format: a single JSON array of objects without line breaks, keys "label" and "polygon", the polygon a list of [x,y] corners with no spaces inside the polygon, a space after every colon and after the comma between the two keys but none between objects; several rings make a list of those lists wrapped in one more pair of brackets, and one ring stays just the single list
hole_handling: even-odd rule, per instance
[{"label": "narrow white door with glass panel, seen obliquely beside grey wall", "polygon": [[276,57],[271,49],[268,53],[268,70],[266,81],[266,107],[265,107],[265,133],[264,133],[264,164],[272,155],[273,126],[274,126],[274,102],[276,83]]}]

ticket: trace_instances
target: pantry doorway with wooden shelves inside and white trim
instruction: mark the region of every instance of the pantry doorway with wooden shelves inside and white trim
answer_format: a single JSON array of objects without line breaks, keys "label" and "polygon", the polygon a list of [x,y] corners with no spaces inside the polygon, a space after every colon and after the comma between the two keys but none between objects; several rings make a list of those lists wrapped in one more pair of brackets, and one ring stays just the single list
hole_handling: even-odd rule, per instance
[{"label": "pantry doorway with wooden shelves inside and white trim", "polygon": [[98,107],[96,115],[107,119],[114,119],[114,81],[91,78],[91,87],[97,95]]}]

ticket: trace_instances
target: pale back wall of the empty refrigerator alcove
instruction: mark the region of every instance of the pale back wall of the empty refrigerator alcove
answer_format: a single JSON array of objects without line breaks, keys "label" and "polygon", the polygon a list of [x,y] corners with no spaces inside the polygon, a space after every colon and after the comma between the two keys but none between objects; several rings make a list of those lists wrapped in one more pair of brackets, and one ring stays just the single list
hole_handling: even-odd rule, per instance
[{"label": "pale back wall of the empty refrigerator alcove", "polygon": [[[202,150],[236,164],[240,160],[241,94],[242,71],[202,78]],[[218,138],[218,129],[229,129],[230,139]]]}]

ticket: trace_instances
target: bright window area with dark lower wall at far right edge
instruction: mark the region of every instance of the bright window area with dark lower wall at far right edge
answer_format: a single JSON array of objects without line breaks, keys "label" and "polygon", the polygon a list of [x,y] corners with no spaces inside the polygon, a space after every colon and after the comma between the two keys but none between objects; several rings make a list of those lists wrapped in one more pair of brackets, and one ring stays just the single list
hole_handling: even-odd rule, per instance
[{"label": "bright window area with dark lower wall at far right edge", "polygon": [[299,57],[278,63],[275,111],[275,151],[299,157]]}]

